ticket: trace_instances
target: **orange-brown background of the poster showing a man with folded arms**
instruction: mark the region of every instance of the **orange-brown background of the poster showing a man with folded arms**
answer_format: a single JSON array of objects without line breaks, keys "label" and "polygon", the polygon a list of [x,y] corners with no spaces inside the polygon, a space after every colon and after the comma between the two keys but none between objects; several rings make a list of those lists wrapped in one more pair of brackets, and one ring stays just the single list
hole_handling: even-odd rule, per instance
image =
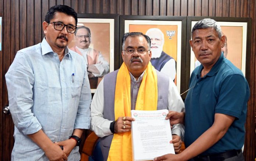
[{"label": "orange-brown background of the poster showing a man with folded arms", "polygon": [[[78,22],[79,23],[79,22]],[[91,32],[90,48],[100,51],[106,61],[110,59],[110,25],[109,23],[82,23]],[[79,26],[77,26],[79,27]],[[69,48],[75,46],[75,37],[68,45]]]}]

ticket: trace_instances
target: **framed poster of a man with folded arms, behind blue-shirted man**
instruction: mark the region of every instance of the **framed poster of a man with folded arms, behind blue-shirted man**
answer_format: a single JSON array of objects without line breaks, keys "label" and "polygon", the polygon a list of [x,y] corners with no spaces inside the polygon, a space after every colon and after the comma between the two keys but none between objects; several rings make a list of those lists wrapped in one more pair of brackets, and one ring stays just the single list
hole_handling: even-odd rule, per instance
[{"label": "framed poster of a man with folded arms, behind blue-shirted man", "polygon": [[117,14],[77,14],[74,39],[68,45],[82,55],[87,64],[91,92],[95,93],[104,75],[118,69]]}]

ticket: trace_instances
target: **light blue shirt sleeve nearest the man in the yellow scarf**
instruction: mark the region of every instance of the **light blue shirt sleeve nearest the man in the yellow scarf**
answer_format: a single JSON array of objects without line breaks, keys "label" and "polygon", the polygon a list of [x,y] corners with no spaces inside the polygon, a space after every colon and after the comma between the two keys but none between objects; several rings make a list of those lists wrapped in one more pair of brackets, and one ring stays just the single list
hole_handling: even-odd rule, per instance
[{"label": "light blue shirt sleeve nearest the man in the yellow scarf", "polygon": [[79,99],[77,117],[75,119],[74,129],[89,129],[90,128],[90,103],[92,101],[92,94],[90,92],[90,84],[86,70],[86,64],[83,60],[83,84],[81,88],[81,95]]}]

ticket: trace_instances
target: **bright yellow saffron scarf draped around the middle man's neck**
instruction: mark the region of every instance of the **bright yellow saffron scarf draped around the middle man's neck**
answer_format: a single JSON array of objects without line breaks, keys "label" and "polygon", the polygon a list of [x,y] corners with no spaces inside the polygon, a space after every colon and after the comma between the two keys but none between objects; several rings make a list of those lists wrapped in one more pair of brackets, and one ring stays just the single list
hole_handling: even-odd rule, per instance
[{"label": "bright yellow saffron scarf draped around the middle man's neck", "polygon": [[[131,117],[131,77],[128,68],[123,63],[117,73],[115,84],[115,120],[118,117]],[[136,110],[157,109],[157,75],[155,68],[149,64],[144,72],[138,91]],[[131,161],[132,140],[131,131],[114,134],[107,161]]]}]

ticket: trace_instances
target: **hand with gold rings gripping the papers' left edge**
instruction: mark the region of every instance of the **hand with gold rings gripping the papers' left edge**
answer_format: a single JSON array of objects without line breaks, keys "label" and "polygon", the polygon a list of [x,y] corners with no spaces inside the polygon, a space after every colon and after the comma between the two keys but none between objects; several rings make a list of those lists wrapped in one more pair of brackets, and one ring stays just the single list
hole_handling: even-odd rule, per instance
[{"label": "hand with gold rings gripping the papers' left edge", "polygon": [[135,119],[132,117],[118,117],[115,121],[114,131],[115,133],[128,132],[131,130],[131,121]]}]

